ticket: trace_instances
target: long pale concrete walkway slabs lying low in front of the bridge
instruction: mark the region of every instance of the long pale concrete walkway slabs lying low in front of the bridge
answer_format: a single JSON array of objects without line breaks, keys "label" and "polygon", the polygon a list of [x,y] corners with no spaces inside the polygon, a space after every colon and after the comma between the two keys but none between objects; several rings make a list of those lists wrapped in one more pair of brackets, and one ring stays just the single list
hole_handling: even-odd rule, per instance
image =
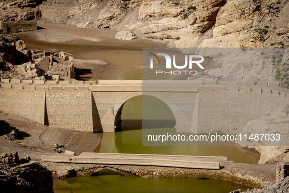
[{"label": "long pale concrete walkway slabs lying low in front of the bridge", "polygon": [[214,156],[178,156],[151,154],[119,153],[82,153],[79,156],[41,156],[44,162],[77,163],[77,164],[111,164],[136,166],[163,166],[195,169],[220,169],[220,162],[226,157]]}]

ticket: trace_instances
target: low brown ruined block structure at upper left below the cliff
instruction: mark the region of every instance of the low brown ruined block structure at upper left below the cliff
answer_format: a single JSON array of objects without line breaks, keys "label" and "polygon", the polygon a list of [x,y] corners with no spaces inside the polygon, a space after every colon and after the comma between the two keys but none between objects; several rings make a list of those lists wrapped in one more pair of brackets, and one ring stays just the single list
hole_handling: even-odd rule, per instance
[{"label": "low brown ruined block structure at upper left below the cliff", "polygon": [[0,21],[0,31],[3,33],[18,33],[25,31],[36,31],[36,21],[3,22]]}]

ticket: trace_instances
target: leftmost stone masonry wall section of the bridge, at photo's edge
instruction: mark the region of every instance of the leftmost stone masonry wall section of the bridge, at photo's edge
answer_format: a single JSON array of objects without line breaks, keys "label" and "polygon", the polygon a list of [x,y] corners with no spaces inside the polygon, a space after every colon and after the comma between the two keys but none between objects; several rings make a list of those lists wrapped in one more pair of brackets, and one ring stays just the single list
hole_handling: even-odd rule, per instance
[{"label": "leftmost stone masonry wall section of the bridge, at photo's edge", "polygon": [[0,111],[44,124],[45,91],[1,88]]}]

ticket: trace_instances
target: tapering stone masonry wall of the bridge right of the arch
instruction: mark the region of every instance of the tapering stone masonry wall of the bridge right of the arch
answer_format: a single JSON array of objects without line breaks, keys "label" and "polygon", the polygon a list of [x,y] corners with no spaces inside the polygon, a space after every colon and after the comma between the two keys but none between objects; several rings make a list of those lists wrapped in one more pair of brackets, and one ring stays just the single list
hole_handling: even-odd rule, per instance
[{"label": "tapering stone masonry wall of the bridge right of the arch", "polygon": [[235,133],[247,121],[289,103],[286,97],[253,91],[199,91],[199,131]]}]

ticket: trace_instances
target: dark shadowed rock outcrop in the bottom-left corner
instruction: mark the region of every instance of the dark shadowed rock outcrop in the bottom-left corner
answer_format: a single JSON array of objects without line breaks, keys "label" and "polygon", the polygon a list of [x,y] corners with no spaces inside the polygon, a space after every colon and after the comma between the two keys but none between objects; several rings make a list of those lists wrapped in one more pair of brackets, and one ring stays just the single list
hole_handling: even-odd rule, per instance
[{"label": "dark shadowed rock outcrop in the bottom-left corner", "polygon": [[3,193],[53,193],[51,171],[38,162],[21,164],[18,153],[0,155],[0,190]]}]

